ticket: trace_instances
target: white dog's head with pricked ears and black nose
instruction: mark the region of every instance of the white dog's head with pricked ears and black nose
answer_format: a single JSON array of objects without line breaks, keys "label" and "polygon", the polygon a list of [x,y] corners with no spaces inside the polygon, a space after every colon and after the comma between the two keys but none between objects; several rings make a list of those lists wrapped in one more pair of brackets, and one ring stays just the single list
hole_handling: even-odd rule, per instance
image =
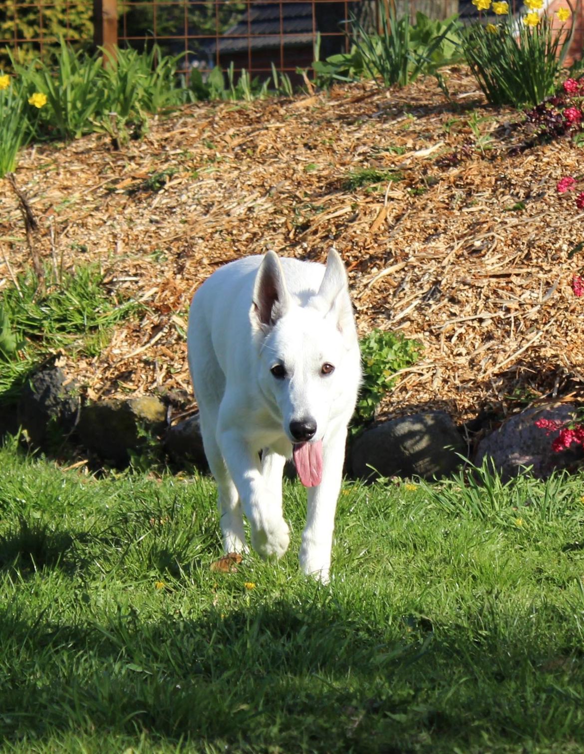
[{"label": "white dog's head with pricked ears and black nose", "polygon": [[347,274],[335,250],[316,292],[310,293],[311,282],[306,281],[304,301],[298,293],[292,296],[280,260],[270,251],[258,269],[250,311],[261,391],[295,445],[322,440],[329,422],[346,415],[347,406],[353,409],[359,385]]}]

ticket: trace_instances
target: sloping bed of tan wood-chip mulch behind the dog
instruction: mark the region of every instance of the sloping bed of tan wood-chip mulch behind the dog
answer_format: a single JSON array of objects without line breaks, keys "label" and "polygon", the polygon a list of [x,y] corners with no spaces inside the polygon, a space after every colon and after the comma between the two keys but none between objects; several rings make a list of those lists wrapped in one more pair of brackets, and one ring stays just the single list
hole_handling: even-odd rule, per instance
[{"label": "sloping bed of tan wood-chip mulch behind the dog", "polygon": [[[27,149],[17,181],[38,219],[38,254],[57,266],[98,261],[112,293],[146,307],[99,357],[65,357],[87,397],[168,391],[184,409],[197,286],[240,256],[323,262],[332,244],[359,333],[392,329],[424,346],[380,416],[445,409],[466,421],[488,406],[579,395],[584,298],[571,283],[584,213],[555,186],[578,173],[582,151],[568,139],[521,151],[521,113],[486,106],[463,69],[448,86],[450,101],[429,78],[203,103],[154,118],[118,151],[99,135]],[[364,168],[393,173],[347,188]],[[2,292],[31,265],[8,181],[0,219]]]}]

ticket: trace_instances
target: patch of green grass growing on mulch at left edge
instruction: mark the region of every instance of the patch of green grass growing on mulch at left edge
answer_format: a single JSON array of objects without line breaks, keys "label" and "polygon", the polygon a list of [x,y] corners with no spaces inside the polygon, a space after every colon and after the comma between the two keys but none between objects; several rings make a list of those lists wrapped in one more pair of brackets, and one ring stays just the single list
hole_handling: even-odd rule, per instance
[{"label": "patch of green grass growing on mulch at left edge", "polygon": [[[46,280],[51,280],[47,268]],[[96,265],[77,267],[55,280],[45,293],[28,272],[18,288],[0,293],[0,403],[14,400],[35,363],[59,349],[96,356],[112,326],[136,311],[136,302],[119,299],[103,284]],[[16,348],[19,350],[16,351]]]}]

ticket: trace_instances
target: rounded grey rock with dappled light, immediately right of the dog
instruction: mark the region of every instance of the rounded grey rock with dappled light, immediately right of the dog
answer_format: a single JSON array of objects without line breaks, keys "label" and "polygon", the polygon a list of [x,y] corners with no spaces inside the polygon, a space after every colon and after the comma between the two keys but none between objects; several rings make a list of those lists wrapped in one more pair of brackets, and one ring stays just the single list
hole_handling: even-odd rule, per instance
[{"label": "rounded grey rock with dappled light, immediately right of the dog", "polygon": [[[460,464],[466,443],[445,412],[413,414],[365,430],[353,444],[354,477],[445,477]],[[370,468],[372,467],[372,468]]]}]

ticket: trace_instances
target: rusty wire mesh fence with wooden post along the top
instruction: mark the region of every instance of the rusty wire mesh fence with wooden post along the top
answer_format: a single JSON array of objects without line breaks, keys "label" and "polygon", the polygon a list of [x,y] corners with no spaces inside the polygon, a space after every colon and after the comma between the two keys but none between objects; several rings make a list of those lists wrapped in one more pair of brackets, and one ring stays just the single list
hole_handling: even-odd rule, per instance
[{"label": "rusty wire mesh fence with wooden post along the top", "polygon": [[[546,0],[554,5],[564,0]],[[572,0],[574,2],[574,0]],[[564,2],[565,4],[565,2]],[[390,6],[398,14],[419,11],[433,18],[477,17],[471,0],[3,0],[0,3],[0,58],[46,57],[63,38],[80,47],[158,44],[181,54],[180,68],[245,68],[252,75],[307,69],[313,60],[347,51],[347,20],[370,26]],[[512,12],[522,7],[510,0]],[[485,19],[486,15],[482,14]],[[577,0],[573,49],[582,52],[584,17]]]}]

